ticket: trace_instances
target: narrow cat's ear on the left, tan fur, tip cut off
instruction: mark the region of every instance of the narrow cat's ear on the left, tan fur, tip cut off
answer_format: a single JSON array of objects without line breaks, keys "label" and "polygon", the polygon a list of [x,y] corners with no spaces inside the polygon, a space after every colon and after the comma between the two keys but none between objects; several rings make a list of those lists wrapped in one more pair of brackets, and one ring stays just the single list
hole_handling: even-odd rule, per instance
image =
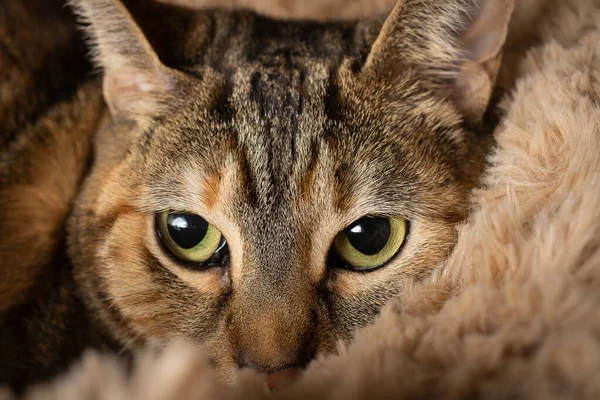
[{"label": "narrow cat's ear on the left, tan fur, tip cut off", "polygon": [[145,123],[177,103],[181,74],[163,65],[119,0],[71,0],[87,25],[113,117]]}]

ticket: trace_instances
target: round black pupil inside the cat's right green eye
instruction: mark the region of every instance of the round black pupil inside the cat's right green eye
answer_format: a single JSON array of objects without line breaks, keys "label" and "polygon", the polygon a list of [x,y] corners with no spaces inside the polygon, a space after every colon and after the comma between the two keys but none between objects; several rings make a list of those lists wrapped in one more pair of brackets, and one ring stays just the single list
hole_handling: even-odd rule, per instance
[{"label": "round black pupil inside the cat's right green eye", "polygon": [[366,217],[347,227],[346,236],[356,250],[372,256],[383,250],[390,240],[391,230],[389,219]]}]

